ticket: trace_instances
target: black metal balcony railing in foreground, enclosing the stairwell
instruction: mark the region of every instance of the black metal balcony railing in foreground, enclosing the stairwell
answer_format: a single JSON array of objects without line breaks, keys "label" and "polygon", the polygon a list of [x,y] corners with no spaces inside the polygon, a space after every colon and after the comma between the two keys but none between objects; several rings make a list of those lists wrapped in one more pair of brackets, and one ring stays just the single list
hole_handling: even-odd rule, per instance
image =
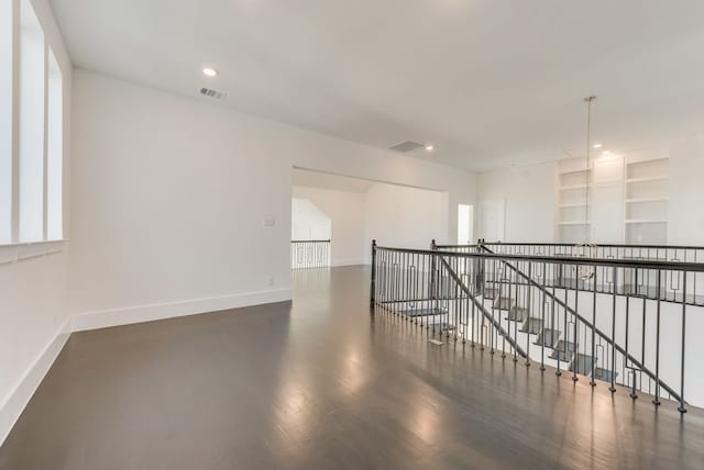
[{"label": "black metal balcony railing in foreground, enclosing the stairwell", "polygon": [[[503,245],[502,245],[503,247]],[[494,246],[494,248],[496,248]],[[372,250],[372,304],[431,335],[678,402],[704,405],[701,371],[686,361],[690,289],[704,264],[560,253],[491,253],[482,244]],[[648,279],[652,290],[630,290]],[[666,299],[667,298],[667,299]],[[685,301],[688,300],[688,301]]]}]

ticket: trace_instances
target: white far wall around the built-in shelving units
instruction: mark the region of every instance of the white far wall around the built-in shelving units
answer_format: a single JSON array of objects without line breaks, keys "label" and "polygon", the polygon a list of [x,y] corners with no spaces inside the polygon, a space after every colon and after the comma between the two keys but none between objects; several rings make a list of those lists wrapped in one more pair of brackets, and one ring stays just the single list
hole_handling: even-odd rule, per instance
[{"label": "white far wall around the built-in shelving units", "polygon": [[[704,246],[704,212],[697,205],[704,200],[704,186],[696,177],[704,174],[704,134],[673,139],[669,148],[668,245]],[[608,178],[622,178],[620,169],[606,168],[608,161],[596,159],[594,165],[597,171],[604,167]],[[614,165],[623,163],[618,159]],[[506,201],[506,242],[554,239],[554,164],[548,163],[477,176],[479,201]],[[597,243],[624,243],[622,186],[597,181],[593,198],[592,238]]]}]

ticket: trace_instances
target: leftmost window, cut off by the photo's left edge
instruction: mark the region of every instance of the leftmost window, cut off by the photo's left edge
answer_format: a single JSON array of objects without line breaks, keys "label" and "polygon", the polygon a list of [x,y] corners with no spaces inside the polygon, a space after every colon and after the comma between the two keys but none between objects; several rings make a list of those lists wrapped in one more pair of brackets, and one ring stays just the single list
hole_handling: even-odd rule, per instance
[{"label": "leftmost window, cut off by the photo's left edge", "polygon": [[12,240],[12,2],[0,1],[0,244]]}]

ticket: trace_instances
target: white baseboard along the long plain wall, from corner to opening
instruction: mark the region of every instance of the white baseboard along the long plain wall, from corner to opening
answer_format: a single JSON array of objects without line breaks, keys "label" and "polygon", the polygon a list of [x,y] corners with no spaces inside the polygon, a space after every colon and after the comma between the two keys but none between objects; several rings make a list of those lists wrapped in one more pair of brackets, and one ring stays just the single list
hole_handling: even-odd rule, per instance
[{"label": "white baseboard along the long plain wall, from corner to opening", "polygon": [[136,305],[99,312],[86,312],[74,315],[73,331],[85,332],[88,329],[107,328],[132,323],[153,322],[155,320],[284,302],[290,299],[290,289],[276,289],[206,299]]}]

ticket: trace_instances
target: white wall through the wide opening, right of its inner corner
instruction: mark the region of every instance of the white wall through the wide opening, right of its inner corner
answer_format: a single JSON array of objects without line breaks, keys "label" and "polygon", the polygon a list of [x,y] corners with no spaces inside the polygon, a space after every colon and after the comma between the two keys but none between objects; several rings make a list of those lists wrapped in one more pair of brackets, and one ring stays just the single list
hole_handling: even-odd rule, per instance
[{"label": "white wall through the wide opening, right of its inner corner", "polygon": [[[448,194],[418,188],[373,184],[366,192],[365,258],[371,262],[372,239],[382,246],[429,248],[450,240],[448,232]],[[457,226],[457,206],[454,224]],[[452,242],[457,238],[457,228]]]}]

